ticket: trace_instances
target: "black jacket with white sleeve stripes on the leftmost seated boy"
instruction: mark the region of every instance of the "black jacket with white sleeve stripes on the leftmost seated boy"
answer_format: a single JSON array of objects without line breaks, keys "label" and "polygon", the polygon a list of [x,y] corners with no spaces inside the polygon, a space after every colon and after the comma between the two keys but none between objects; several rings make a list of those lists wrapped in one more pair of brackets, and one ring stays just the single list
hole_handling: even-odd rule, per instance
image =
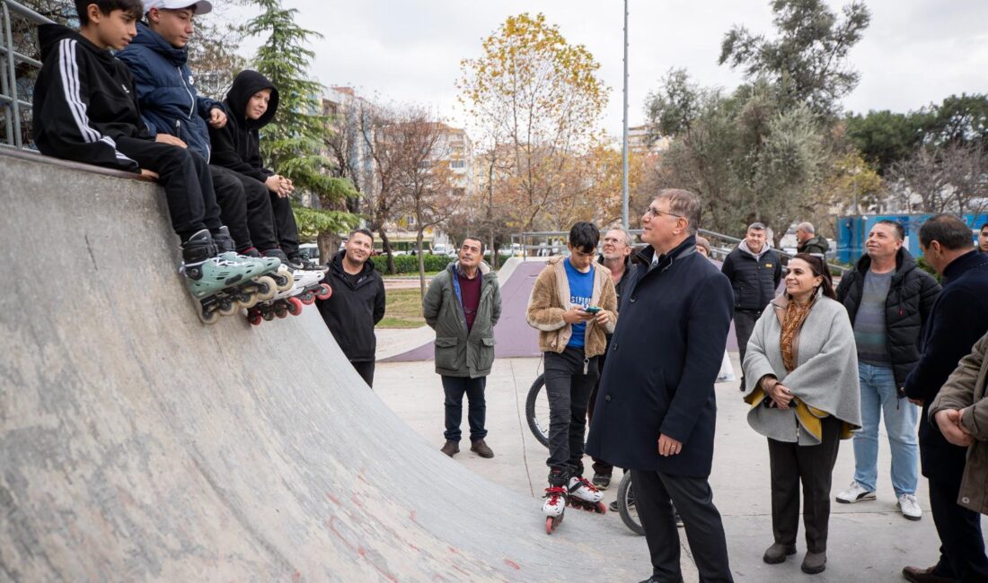
[{"label": "black jacket with white sleeve stripes on the leftmost seated boy", "polygon": [[126,65],[85,36],[41,25],[41,73],[34,93],[34,138],[41,154],[137,173],[116,140],[150,140]]}]

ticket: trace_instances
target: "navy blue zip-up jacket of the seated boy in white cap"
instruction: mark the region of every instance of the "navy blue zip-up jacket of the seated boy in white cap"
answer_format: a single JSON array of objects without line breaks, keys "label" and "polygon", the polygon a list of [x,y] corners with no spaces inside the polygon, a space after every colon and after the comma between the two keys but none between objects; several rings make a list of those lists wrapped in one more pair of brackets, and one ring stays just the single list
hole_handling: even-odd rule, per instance
[{"label": "navy blue zip-up jacket of the seated boy in white cap", "polygon": [[147,27],[137,23],[137,36],[117,53],[130,68],[137,87],[141,116],[151,136],[171,134],[189,149],[209,160],[209,127],[206,120],[213,108],[223,109],[215,100],[196,91],[189,70],[189,51],[175,48]]}]

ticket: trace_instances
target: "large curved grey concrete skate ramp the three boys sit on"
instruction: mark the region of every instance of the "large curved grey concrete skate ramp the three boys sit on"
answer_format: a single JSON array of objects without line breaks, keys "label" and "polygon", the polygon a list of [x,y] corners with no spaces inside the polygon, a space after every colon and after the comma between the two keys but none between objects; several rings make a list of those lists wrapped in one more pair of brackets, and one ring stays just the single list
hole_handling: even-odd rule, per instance
[{"label": "large curved grey concrete skate ramp the three boys sit on", "polygon": [[0,179],[0,580],[648,572],[423,441],[313,308],[200,324],[157,186],[12,154]]}]

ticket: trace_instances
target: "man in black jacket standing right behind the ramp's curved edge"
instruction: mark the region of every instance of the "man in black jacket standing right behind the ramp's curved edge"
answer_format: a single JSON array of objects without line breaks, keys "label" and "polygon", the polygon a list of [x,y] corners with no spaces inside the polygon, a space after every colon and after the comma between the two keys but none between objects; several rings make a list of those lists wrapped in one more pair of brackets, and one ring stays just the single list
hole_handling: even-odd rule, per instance
[{"label": "man in black jacket standing right behind the ramp's curved edge", "polygon": [[373,235],[367,229],[350,234],[344,250],[329,263],[326,282],[333,288],[328,300],[317,300],[319,313],[336,343],[357,373],[373,387],[373,327],[384,318],[384,280],[373,267]]}]

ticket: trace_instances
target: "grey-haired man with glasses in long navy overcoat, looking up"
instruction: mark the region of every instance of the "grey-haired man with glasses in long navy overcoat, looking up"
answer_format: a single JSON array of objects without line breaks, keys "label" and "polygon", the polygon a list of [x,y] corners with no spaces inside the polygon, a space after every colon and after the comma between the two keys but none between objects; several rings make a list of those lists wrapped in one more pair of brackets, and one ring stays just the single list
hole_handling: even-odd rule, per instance
[{"label": "grey-haired man with glasses in long navy overcoat, looking up", "polygon": [[697,253],[696,194],[660,191],[641,222],[648,247],[618,308],[587,452],[631,471],[652,561],[648,582],[683,579],[672,504],[683,517],[700,581],[733,581],[708,477],[713,384],[734,295],[727,277]]}]

